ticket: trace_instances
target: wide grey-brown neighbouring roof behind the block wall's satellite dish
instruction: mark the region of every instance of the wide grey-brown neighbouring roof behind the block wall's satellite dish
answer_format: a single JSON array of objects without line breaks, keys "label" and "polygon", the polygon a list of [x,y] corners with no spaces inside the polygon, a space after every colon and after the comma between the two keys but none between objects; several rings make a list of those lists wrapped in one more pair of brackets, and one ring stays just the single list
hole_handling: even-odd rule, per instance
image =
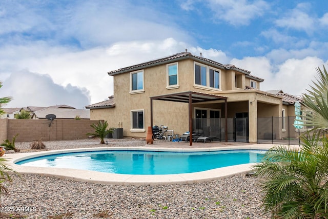
[{"label": "wide grey-brown neighbouring roof behind the block wall's satellite dish", "polygon": [[90,110],[51,107],[33,112],[32,118],[46,118],[48,114],[54,114],[56,118],[75,118],[79,116],[81,119],[90,120]]}]

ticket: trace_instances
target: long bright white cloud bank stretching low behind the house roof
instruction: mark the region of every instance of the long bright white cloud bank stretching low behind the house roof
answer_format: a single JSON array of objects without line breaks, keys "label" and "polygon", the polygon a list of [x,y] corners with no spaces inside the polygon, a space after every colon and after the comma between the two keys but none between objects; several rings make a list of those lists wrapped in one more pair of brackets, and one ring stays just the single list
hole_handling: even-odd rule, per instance
[{"label": "long bright white cloud bank stretching low behind the house roof", "polygon": [[[319,45],[315,44],[313,47]],[[277,50],[275,53],[269,53],[268,57],[245,57],[231,60],[221,50],[193,47],[173,38],[162,41],[119,42],[110,47],[97,47],[85,51],[36,44],[14,47],[11,48],[12,50],[7,48],[0,52],[0,66],[2,66],[0,77],[8,78],[3,81],[4,87],[1,92],[2,96],[14,96],[15,107],[18,101],[22,102],[17,107],[30,106],[34,103],[36,105],[37,99],[47,103],[42,105],[73,105],[75,103],[72,103],[70,98],[64,98],[70,96],[65,92],[69,93],[72,88],[71,93],[75,95],[73,98],[70,97],[78,101],[76,105],[81,108],[104,101],[113,94],[113,78],[108,76],[108,71],[183,52],[186,48],[194,55],[200,55],[201,52],[203,57],[219,63],[231,63],[252,71],[253,75],[264,79],[261,90],[282,89],[294,95],[305,91],[305,87],[316,73],[315,68],[323,64],[323,61],[315,56],[304,56],[309,53],[310,49],[309,51]],[[7,59],[6,54],[9,55]],[[277,65],[276,63],[279,62],[272,62],[277,57],[281,57],[282,64]],[[26,70],[21,71],[22,69]],[[37,90],[35,90],[36,87]],[[49,96],[55,102],[49,103],[47,99]],[[82,106],[81,102],[83,102]]]}]

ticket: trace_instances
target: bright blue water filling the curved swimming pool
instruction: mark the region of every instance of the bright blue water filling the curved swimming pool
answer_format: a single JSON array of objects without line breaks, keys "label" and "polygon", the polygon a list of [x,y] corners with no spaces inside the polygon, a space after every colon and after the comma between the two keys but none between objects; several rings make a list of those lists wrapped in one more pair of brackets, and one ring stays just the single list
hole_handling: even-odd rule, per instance
[{"label": "bright blue water filling the curved swimming pool", "polygon": [[18,165],[93,170],[119,174],[178,174],[260,162],[263,150],[214,152],[93,151],[40,156]]}]

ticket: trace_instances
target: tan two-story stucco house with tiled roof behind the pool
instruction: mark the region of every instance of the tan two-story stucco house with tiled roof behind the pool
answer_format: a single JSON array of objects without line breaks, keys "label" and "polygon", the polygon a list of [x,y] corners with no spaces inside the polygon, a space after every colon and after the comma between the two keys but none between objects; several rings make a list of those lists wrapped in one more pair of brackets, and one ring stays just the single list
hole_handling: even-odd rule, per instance
[{"label": "tan two-story stucco house with tiled roof behind the pool", "polygon": [[257,142],[265,134],[257,129],[258,118],[284,112],[282,96],[260,90],[264,79],[190,52],[108,74],[114,78],[111,104],[86,108],[91,119],[123,128],[124,136],[146,137],[147,127],[164,125],[180,135],[195,131],[219,141]]}]

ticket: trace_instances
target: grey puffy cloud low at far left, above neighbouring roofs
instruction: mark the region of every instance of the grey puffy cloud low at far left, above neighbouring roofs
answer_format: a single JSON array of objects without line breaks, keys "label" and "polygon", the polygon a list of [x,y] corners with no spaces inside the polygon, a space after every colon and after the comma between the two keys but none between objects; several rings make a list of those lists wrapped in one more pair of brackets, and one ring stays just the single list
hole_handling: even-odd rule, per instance
[{"label": "grey puffy cloud low at far left, above neighbouring roofs", "polygon": [[68,84],[55,84],[46,74],[29,71],[11,73],[1,88],[3,96],[12,96],[13,100],[6,107],[27,107],[66,104],[83,109],[90,102],[90,94],[85,88]]}]

